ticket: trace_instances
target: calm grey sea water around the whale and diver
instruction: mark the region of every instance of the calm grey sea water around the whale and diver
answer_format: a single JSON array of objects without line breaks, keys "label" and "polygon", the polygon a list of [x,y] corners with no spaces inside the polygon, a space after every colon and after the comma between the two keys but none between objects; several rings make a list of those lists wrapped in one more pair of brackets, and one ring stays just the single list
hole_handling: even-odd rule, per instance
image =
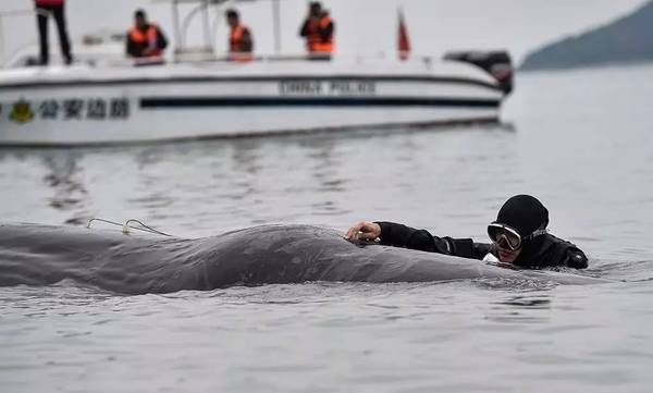
[{"label": "calm grey sea water around the whale and diver", "polygon": [[523,74],[503,124],[0,150],[2,221],[180,236],[391,220],[484,240],[517,193],[593,286],[322,284],[115,296],[0,288],[2,392],[650,392],[653,66]]}]

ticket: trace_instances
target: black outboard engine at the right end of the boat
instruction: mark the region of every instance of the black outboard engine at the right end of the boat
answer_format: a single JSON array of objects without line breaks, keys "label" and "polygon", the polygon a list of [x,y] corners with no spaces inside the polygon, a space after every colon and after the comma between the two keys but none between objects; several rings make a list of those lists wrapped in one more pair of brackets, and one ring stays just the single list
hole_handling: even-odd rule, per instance
[{"label": "black outboard engine at the right end of the boat", "polygon": [[505,50],[448,52],[444,59],[477,65],[492,75],[506,94],[513,91],[513,61]]}]

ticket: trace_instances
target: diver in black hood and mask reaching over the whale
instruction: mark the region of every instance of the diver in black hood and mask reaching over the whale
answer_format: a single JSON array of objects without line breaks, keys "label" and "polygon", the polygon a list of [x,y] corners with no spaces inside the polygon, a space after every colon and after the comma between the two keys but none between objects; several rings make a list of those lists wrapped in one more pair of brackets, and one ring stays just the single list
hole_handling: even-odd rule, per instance
[{"label": "diver in black hood and mask reaching over the whale", "polygon": [[[549,210],[530,195],[509,198],[488,225],[493,243],[475,243],[471,238],[438,237],[392,222],[359,222],[345,238],[379,240],[382,245],[440,253],[464,258],[496,260],[517,268],[540,269],[570,267],[584,269],[588,258],[576,245],[547,233]],[[489,257],[494,258],[489,258]]]}]

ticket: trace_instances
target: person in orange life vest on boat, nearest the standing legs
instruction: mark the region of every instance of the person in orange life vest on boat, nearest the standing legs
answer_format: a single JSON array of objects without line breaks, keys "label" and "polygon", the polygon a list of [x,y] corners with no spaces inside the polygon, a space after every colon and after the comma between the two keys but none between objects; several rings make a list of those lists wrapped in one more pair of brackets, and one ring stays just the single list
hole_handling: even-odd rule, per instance
[{"label": "person in orange life vest on boat, nearest the standing legs", "polygon": [[161,60],[163,50],[168,47],[168,39],[153,23],[148,23],[145,11],[134,13],[134,27],[127,33],[126,52],[136,59]]}]

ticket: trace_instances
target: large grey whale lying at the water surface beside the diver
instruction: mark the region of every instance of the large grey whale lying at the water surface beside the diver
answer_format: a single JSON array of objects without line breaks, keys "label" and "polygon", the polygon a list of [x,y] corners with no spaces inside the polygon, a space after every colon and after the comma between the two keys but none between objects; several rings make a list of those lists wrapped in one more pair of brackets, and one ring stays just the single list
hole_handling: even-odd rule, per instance
[{"label": "large grey whale lying at the water surface beside the diver", "polygon": [[64,280],[120,294],[306,282],[475,279],[594,284],[568,272],[514,270],[442,254],[344,240],[312,225],[261,225],[181,238],[44,224],[0,224],[0,286]]}]

